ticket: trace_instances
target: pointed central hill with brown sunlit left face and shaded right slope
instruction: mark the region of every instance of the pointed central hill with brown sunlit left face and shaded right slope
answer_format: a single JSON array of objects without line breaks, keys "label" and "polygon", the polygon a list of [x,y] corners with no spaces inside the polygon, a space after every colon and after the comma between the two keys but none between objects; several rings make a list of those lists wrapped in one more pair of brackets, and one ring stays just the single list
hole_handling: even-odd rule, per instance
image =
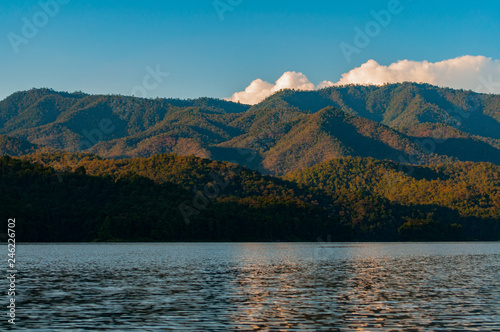
[{"label": "pointed central hill with brown sunlit left face and shaded right slope", "polygon": [[412,159],[418,163],[451,160],[428,153],[406,135],[387,126],[331,107],[297,116],[292,123],[278,122],[276,128],[279,129],[271,131],[264,140],[243,135],[220,146],[257,151],[262,160],[261,171],[278,175],[346,156]]}]

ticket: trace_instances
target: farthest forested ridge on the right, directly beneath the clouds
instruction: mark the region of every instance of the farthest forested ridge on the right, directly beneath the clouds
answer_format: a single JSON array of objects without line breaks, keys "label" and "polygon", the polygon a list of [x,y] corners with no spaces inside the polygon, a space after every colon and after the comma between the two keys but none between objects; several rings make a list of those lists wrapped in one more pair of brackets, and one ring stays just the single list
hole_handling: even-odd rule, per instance
[{"label": "farthest forested ridge on the right, directly beneath the clouds", "polygon": [[[332,106],[391,128],[442,123],[483,137],[500,138],[500,96],[401,83],[346,85],[319,91],[280,91],[256,109],[295,109],[317,112]],[[493,121],[492,121],[493,120]]]}]

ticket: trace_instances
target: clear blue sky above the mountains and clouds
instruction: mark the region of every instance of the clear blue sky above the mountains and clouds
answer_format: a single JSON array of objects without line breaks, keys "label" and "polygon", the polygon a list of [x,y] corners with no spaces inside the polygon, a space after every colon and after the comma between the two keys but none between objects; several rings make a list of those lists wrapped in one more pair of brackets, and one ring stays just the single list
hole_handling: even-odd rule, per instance
[{"label": "clear blue sky above the mountains and clouds", "polygon": [[[39,1],[0,0],[0,98],[32,87],[131,95],[148,66],[169,73],[148,97],[222,98],[286,71],[337,82],[370,59],[500,59],[498,1],[401,0],[402,11],[351,62],[339,45],[353,44],[354,28],[390,1],[221,2],[231,8],[224,20],[213,0],[70,0],[42,24]],[[41,27],[25,38],[23,18],[34,17]],[[24,38],[17,53],[14,35]]]}]

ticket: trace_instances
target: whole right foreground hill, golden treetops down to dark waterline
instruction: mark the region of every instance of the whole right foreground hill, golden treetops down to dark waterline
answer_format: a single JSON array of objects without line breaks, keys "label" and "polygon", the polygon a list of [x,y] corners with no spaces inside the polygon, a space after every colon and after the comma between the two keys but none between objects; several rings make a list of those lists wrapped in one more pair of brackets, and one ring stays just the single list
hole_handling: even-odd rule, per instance
[{"label": "whole right foreground hill, golden treetops down to dark waterline", "polygon": [[499,240],[500,167],[333,159],[285,177],[331,197],[366,240]]}]

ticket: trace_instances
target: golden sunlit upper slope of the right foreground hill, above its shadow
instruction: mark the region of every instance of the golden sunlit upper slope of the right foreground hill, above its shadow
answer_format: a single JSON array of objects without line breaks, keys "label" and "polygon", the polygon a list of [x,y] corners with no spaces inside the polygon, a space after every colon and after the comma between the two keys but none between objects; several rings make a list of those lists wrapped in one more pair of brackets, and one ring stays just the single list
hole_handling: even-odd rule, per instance
[{"label": "golden sunlit upper slope of the right foreground hill, above its shadow", "polygon": [[[342,158],[296,171],[285,179],[323,191],[334,202],[364,193],[390,205],[414,208],[427,223],[461,220],[465,234],[482,225],[482,232],[487,230],[494,238],[500,235],[500,167],[489,163],[408,166],[372,158]],[[410,215],[409,222],[415,222]]]}]

